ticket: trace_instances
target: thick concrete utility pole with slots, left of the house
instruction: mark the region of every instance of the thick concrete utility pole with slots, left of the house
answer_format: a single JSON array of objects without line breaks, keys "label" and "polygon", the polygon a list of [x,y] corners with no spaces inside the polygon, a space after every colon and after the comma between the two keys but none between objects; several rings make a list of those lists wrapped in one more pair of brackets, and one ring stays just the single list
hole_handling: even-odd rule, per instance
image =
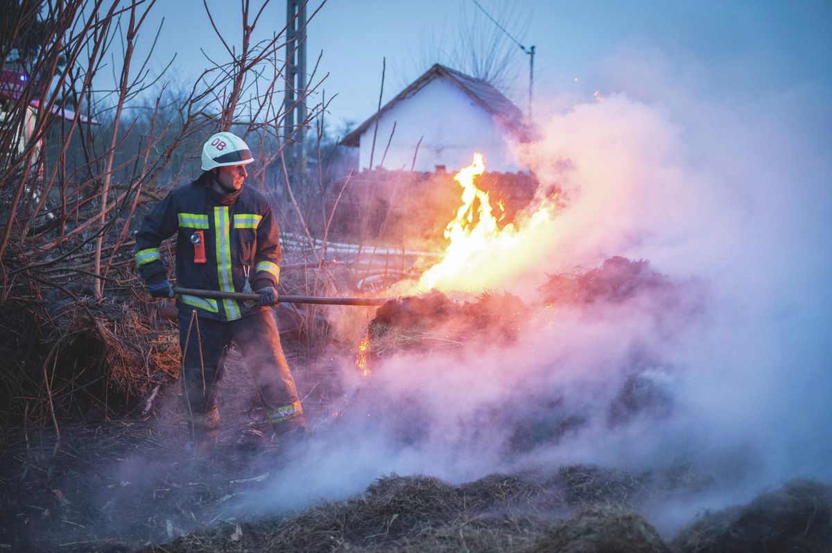
[{"label": "thick concrete utility pole with slots, left of the house", "polygon": [[283,145],[294,161],[295,176],[306,172],[306,2],[286,0],[286,93]]}]

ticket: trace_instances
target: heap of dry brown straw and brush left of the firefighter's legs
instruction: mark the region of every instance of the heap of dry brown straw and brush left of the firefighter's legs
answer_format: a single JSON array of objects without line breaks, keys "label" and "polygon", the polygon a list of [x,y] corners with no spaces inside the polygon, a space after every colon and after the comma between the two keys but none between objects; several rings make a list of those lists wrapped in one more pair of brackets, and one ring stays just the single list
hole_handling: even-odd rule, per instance
[{"label": "heap of dry brown straw and brush left of the firefighter's legs", "polygon": [[121,416],[174,382],[179,344],[141,299],[0,304],[4,427]]}]

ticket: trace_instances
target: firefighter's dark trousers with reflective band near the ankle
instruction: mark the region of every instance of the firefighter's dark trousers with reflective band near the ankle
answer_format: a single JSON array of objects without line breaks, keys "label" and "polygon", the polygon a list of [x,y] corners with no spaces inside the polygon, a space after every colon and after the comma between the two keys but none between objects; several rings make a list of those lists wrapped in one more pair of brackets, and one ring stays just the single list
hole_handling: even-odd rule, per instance
[{"label": "firefighter's dark trousers with reflective band near the ankle", "polygon": [[191,322],[190,316],[180,313],[182,395],[192,435],[198,439],[216,439],[219,434],[216,388],[224,372],[223,357],[232,339],[245,358],[275,433],[303,427],[303,409],[295,379],[286,363],[270,309],[260,309],[235,321],[194,318]]}]

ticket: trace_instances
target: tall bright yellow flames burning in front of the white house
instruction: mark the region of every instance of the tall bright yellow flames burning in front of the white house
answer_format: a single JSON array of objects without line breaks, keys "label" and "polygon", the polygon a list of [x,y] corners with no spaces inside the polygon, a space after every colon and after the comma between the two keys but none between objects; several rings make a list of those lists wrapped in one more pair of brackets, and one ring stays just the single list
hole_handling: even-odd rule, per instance
[{"label": "tall bright yellow flames burning in front of the white house", "polygon": [[[462,205],[445,228],[445,238],[450,244],[442,261],[422,274],[418,289],[480,292],[503,284],[504,279],[537,259],[535,233],[550,220],[553,203],[543,205],[532,214],[522,230],[513,223],[501,230],[488,192],[474,184],[476,177],[484,172],[483,155],[475,153],[473,163],[454,175],[463,192]],[[503,210],[502,205],[499,208]]]}]

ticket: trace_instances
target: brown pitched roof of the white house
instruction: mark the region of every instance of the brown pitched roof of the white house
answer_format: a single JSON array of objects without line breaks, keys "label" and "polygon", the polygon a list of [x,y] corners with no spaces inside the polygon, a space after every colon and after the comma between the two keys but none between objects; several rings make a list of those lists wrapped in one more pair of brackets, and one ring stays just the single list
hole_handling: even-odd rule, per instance
[{"label": "brown pitched roof of the white house", "polygon": [[495,121],[506,128],[514,136],[522,142],[532,140],[531,127],[523,120],[522,111],[518,106],[509,100],[506,96],[494,88],[488,81],[483,79],[476,79],[465,73],[458,72],[450,67],[445,67],[441,64],[434,64],[433,67],[424,72],[421,77],[410,83],[403,91],[394,97],[393,100],[387,102],[379,111],[373,114],[367,121],[364,121],[349,135],[344,136],[341,144],[344,146],[359,146],[361,135],[364,134],[370,125],[374,124],[375,120],[384,114],[386,111],[392,109],[399,101],[405,100],[410,96],[420,91],[428,82],[438,77],[444,77],[451,81],[453,85],[457,86],[463,91],[471,100],[473,100],[488,114],[493,116]]}]

